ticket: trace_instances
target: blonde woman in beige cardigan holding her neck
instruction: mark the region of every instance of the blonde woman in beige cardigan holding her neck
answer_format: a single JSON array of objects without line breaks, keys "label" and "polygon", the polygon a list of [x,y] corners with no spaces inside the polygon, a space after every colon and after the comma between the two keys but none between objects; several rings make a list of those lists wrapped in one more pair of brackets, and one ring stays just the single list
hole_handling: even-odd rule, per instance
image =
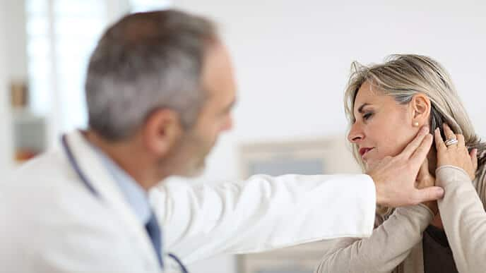
[{"label": "blonde woman in beige cardigan holding her neck", "polygon": [[430,126],[436,143],[417,186],[435,183],[445,195],[395,210],[379,207],[372,236],[336,241],[316,272],[486,272],[486,143],[475,135],[449,75],[437,61],[416,55],[353,67],[345,108],[357,162],[366,171]]}]

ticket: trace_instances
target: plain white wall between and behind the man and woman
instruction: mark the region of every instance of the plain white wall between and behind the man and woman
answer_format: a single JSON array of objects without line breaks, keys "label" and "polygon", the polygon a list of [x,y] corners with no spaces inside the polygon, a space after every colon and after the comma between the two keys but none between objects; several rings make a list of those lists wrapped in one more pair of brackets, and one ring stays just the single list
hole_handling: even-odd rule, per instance
[{"label": "plain white wall between and behind the man and woman", "polygon": [[[221,138],[198,181],[237,178],[237,144],[343,134],[343,89],[353,60],[426,54],[452,75],[486,136],[485,1],[179,0],[211,16],[232,51],[239,79],[235,130]],[[235,272],[215,257],[193,272]]]}]

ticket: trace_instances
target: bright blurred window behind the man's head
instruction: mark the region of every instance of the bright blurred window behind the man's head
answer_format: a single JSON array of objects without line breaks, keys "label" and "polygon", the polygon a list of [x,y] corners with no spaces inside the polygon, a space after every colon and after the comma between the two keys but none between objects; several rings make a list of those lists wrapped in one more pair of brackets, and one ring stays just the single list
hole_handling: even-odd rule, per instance
[{"label": "bright blurred window behind the man's head", "polygon": [[49,142],[87,124],[84,81],[89,56],[109,20],[170,0],[25,0],[30,108],[46,116]]}]

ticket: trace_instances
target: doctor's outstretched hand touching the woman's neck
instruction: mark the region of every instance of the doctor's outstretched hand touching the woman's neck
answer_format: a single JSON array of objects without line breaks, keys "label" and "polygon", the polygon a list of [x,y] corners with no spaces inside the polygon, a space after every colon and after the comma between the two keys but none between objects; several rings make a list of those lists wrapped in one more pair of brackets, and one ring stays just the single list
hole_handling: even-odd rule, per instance
[{"label": "doctor's outstretched hand touching the woman's neck", "polygon": [[436,186],[417,189],[420,165],[432,145],[432,135],[422,127],[414,140],[396,157],[385,157],[367,171],[377,189],[377,204],[388,207],[416,205],[444,196],[444,189]]}]

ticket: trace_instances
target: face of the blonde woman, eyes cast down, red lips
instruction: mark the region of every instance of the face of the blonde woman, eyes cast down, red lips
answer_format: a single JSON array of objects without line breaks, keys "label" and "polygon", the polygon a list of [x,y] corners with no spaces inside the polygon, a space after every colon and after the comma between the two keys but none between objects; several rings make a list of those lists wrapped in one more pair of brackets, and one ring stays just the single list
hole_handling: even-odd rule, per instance
[{"label": "face of the blonde woman, eyes cast down, red lips", "polygon": [[399,154],[420,129],[417,124],[414,126],[415,111],[410,104],[398,104],[369,82],[358,90],[353,112],[355,123],[348,140],[357,145],[366,167]]}]

